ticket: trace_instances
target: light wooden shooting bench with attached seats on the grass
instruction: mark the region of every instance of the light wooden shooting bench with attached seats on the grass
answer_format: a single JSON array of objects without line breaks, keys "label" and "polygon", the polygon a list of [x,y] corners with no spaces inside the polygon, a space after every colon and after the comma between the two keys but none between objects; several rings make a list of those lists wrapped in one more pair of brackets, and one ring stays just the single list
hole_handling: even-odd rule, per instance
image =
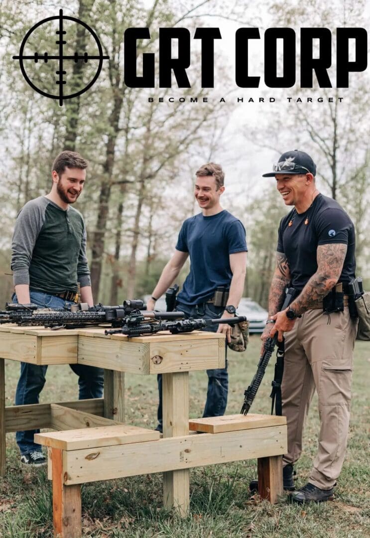
[{"label": "light wooden shooting bench with attached seats on the grass", "polygon": [[[81,535],[81,484],[163,473],[163,502],[186,515],[189,469],[258,458],[259,492],[282,494],[281,455],[287,451],[285,417],[230,415],[189,421],[189,372],[225,365],[224,336],[213,332],[127,338],[104,329],[0,327],[0,474],[5,433],[34,428],[48,447],[53,480],[55,535]],[[33,364],[86,364],[104,368],[104,398],[5,407],[4,359]],[[158,431],[125,425],[124,374],[161,373],[163,438]],[[193,431],[190,431],[193,430]],[[196,431],[204,432],[195,435]]]}]

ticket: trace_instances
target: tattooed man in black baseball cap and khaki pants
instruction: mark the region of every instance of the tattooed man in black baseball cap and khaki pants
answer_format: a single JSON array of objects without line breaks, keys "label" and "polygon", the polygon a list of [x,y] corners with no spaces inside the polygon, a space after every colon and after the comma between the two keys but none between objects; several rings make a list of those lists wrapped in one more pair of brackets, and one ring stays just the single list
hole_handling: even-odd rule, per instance
[{"label": "tattooed man in black baseball cap and khaki pants", "polygon": [[[304,422],[315,388],[321,429],[308,483],[291,497],[297,502],[326,501],[345,457],[350,419],[352,353],[357,320],[348,309],[348,284],[354,278],[354,225],[339,206],[320,194],[316,165],[299,150],[283,153],[273,172],[286,206],[269,292],[269,319],[261,336],[284,335],[282,414],[287,417],[288,452],[283,456],[284,489],[293,491],[293,465],[302,451]],[[295,299],[280,312],[284,290]]]}]

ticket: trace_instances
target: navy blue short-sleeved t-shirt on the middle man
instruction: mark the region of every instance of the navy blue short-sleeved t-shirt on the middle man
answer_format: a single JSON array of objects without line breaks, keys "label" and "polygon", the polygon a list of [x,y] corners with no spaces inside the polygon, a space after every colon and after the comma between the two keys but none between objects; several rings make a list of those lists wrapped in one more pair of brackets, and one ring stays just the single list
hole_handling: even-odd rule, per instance
[{"label": "navy blue short-sleeved t-shirt on the middle man", "polygon": [[230,286],[230,254],[246,252],[245,228],[225,209],[211,215],[187,218],[181,226],[176,250],[189,252],[190,273],[178,295],[186,305],[210,299],[218,286]]}]

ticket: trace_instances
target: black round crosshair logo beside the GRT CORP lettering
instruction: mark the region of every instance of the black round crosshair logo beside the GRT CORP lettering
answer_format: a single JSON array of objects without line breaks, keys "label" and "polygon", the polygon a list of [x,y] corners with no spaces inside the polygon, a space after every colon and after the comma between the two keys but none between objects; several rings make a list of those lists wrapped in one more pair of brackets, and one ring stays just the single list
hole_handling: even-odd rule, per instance
[{"label": "black round crosshair logo beside the GRT CORP lettering", "polygon": [[[36,29],[38,29],[41,25],[45,25],[46,23],[49,23],[50,21],[54,21],[54,20],[58,20],[58,22],[59,22],[59,28],[55,32],[55,34],[58,36],[58,39],[55,41],[55,44],[58,45],[58,54],[50,54],[50,53],[45,52],[44,54],[40,55],[38,52],[34,52],[32,55],[25,55],[24,54],[24,48],[25,48],[25,46],[27,44],[27,41],[31,37],[31,34],[33,34],[33,32]],[[74,54],[69,54],[69,55],[68,54],[63,54],[63,52],[65,51],[65,45],[67,44],[67,41],[65,41],[63,39],[63,36],[65,36],[66,33],[67,33],[65,31],[65,29],[64,29],[64,26],[63,26],[63,22],[65,20],[70,20],[70,21],[72,21],[72,22],[74,22],[76,24],[79,24],[79,25],[83,26],[90,33],[90,35],[93,37],[93,40],[94,40],[94,42],[96,44],[96,47],[97,47],[97,51],[98,51],[97,55],[89,55],[87,52],[83,52],[81,54],[78,51],[75,51]],[[59,16],[57,16],[57,17],[48,17],[47,19],[42,19],[42,20],[40,20],[39,23],[32,26],[32,28],[26,33],[26,35],[25,35],[25,37],[24,37],[24,39],[22,41],[22,44],[20,45],[19,56],[13,56],[13,60],[19,60],[20,70],[22,71],[22,74],[23,74],[25,80],[27,81],[27,83],[30,84],[31,88],[33,88],[39,94],[44,95],[45,97],[50,97],[52,99],[59,100],[60,106],[63,105],[63,100],[72,99],[72,97],[77,97],[77,95],[81,95],[85,91],[87,91],[89,88],[91,88],[91,86],[93,86],[93,84],[96,82],[96,80],[97,80],[97,78],[98,78],[98,76],[99,76],[99,74],[100,74],[100,72],[102,70],[103,60],[108,60],[108,59],[109,59],[109,56],[104,56],[103,55],[102,45],[101,45],[96,33],[94,32],[94,30],[91,29],[86,23],[83,23],[82,20],[76,19],[75,17],[68,17],[66,15],[63,15],[63,10],[62,9],[59,11]],[[58,61],[58,69],[55,70],[55,72],[53,72],[56,75],[58,75],[56,80],[55,80],[55,76],[54,76],[54,84],[56,84],[56,86],[58,86],[58,88],[59,88],[58,93],[55,93],[55,94],[48,93],[48,91],[44,91],[41,88],[39,88],[38,86],[36,86],[32,82],[32,80],[30,79],[29,75],[26,72],[25,60],[33,60],[33,62],[35,64],[39,63],[39,62],[44,62],[44,64],[45,64],[45,63],[48,63],[49,61],[53,61],[53,62],[55,62],[55,60]],[[66,94],[65,90],[63,89],[65,86],[67,87],[67,84],[68,84],[68,80],[65,80],[65,75],[67,74],[66,65],[68,65],[68,63],[71,62],[71,61],[75,62],[75,63],[77,63],[79,61],[83,61],[84,63],[88,63],[90,60],[97,60],[98,61],[97,69],[96,69],[96,72],[95,72],[93,78],[81,90],[75,91],[74,93]]]}]

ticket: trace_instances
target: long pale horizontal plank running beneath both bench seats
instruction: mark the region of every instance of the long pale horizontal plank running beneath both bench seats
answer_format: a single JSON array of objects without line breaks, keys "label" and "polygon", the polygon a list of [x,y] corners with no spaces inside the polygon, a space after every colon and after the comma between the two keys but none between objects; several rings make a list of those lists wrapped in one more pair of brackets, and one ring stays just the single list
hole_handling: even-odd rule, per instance
[{"label": "long pale horizontal plank running beneath both bench seats", "polygon": [[[65,452],[66,484],[237,462],[282,455],[286,451],[286,426],[163,438],[155,443],[103,447],[98,454],[70,450]],[[91,455],[96,456],[93,459]]]}]

